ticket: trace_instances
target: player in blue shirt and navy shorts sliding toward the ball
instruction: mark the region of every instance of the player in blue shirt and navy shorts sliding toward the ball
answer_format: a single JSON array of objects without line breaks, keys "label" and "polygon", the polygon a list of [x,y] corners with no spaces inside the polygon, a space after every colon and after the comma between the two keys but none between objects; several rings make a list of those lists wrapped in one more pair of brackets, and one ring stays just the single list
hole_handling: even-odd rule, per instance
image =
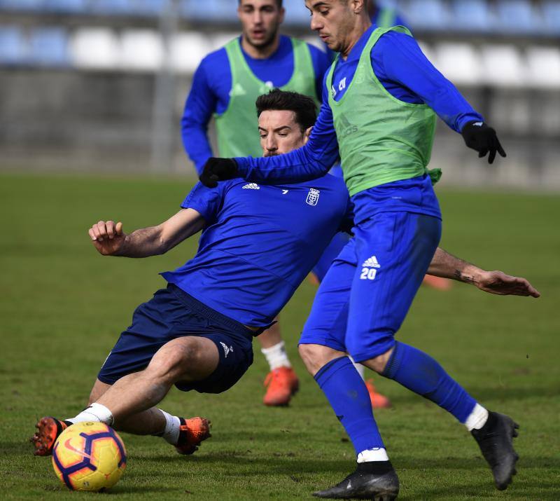
[{"label": "player in blue shirt and navy shorts sliding toward the ball", "polygon": [[[274,92],[259,99],[258,109],[268,154],[307,141],[315,120],[310,99]],[[160,435],[179,452],[193,453],[209,437],[209,422],[171,416],[155,405],[172,385],[216,393],[235,384],[253,359],[252,336],[288,301],[332,233],[351,224],[347,203],[344,184],[332,176],[284,186],[232,181],[215,189],[195,186],[184,208],[153,228],[125,235],[120,223],[94,224],[90,237],[99,252],[135,257],[161,254],[204,229],[195,258],[165,273],[167,289],[134,312],[99,372],[90,407],[69,420],[39,421],[36,454],[48,455],[57,434],[83,420]],[[486,291],[533,291],[524,279],[484,272],[438,251],[433,273],[450,276],[457,269],[477,273],[473,283]]]}]

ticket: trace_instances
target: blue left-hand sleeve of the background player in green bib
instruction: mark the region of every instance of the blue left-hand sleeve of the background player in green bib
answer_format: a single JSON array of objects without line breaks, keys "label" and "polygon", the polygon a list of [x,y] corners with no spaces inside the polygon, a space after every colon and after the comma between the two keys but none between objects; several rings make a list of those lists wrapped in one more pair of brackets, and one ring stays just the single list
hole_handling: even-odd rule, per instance
[{"label": "blue left-hand sleeve of the background player in green bib", "polygon": [[183,118],[181,118],[181,137],[183,146],[193,160],[197,172],[202,172],[204,163],[212,156],[208,139],[208,123],[216,110],[216,96],[211,90],[206,72],[206,61],[202,60],[195,71]]}]

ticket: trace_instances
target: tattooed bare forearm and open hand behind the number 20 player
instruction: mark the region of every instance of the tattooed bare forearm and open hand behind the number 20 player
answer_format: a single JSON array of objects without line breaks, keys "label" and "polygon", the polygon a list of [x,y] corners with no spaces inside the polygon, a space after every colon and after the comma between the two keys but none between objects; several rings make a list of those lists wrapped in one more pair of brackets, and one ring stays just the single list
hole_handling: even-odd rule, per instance
[{"label": "tattooed bare forearm and open hand behind the number 20 player", "polygon": [[435,251],[428,274],[473,284],[482,291],[500,296],[540,296],[540,292],[525,278],[506,275],[499,270],[483,270],[440,247]]}]

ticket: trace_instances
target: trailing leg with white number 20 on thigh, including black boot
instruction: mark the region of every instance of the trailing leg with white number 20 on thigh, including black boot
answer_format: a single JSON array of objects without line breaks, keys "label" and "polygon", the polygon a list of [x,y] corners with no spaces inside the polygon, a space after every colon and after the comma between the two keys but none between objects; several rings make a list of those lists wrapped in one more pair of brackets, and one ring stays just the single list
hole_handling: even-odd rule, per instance
[{"label": "trailing leg with white number 20 on thigh, including black boot", "polygon": [[412,213],[377,214],[356,228],[361,266],[352,284],[346,348],[356,361],[430,399],[463,423],[477,439],[496,486],[504,489],[515,473],[512,439],[517,425],[507,416],[489,414],[432,357],[393,338],[439,238],[438,219]]}]

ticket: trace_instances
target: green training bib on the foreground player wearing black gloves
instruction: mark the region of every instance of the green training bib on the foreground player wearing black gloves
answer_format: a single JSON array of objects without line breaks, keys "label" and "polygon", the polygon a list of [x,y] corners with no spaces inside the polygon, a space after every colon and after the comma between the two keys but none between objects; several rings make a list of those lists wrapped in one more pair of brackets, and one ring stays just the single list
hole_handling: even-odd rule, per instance
[{"label": "green training bib on the foreground player wearing black gloves", "polygon": [[[391,30],[412,36],[402,26],[375,29],[339,101],[332,96],[332,74],[339,56],[328,72],[327,85],[331,90],[328,102],[350,195],[428,172],[426,166],[435,131],[434,111],[426,104],[410,104],[391,95],[372,69],[372,48],[382,34]],[[439,175],[430,172],[433,182]]]}]

